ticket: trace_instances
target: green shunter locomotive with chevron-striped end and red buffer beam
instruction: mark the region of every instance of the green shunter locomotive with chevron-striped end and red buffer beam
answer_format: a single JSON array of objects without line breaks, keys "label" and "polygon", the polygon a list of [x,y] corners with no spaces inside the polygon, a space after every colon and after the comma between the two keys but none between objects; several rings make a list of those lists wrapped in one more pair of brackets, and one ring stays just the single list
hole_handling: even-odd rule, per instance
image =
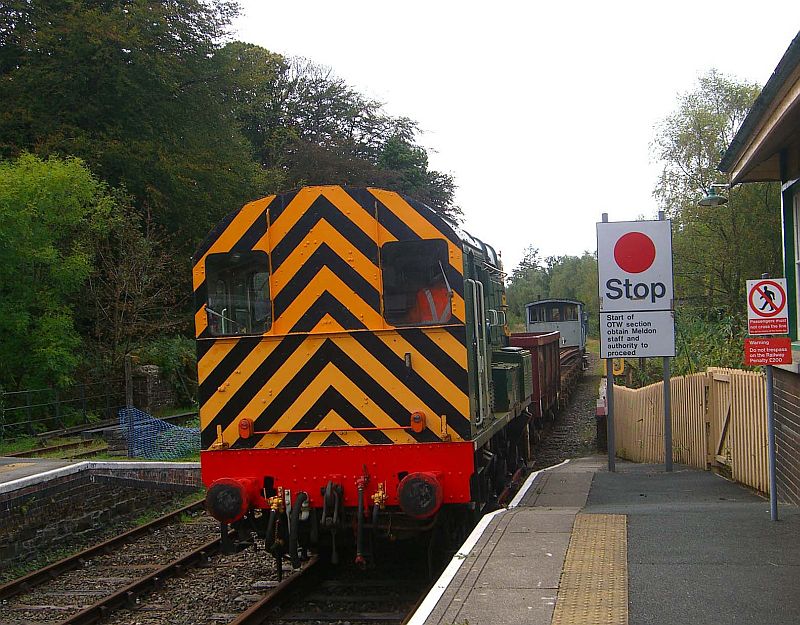
[{"label": "green shunter locomotive with chevron-striped end and red buffer beam", "polygon": [[[297,564],[497,502],[529,453],[530,351],[495,250],[374,188],[228,215],[194,257],[202,478],[223,536]],[[341,542],[340,542],[341,544]]]}]

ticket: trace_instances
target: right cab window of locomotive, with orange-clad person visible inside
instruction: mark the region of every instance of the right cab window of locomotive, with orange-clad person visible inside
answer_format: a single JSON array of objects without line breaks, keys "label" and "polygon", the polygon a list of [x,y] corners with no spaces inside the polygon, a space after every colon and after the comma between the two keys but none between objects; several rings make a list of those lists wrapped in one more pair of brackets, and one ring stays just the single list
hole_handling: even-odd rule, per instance
[{"label": "right cab window of locomotive, with orange-clad person visible inside", "polygon": [[452,319],[452,296],[442,240],[393,241],[381,248],[383,309],[392,325],[437,325]]}]

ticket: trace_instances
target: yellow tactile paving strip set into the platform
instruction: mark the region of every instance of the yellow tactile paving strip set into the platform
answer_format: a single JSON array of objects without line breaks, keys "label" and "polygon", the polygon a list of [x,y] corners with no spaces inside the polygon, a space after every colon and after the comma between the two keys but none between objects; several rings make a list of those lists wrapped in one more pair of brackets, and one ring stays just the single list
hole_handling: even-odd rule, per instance
[{"label": "yellow tactile paving strip set into the platform", "polygon": [[552,625],[628,624],[627,527],[622,514],[575,517]]}]

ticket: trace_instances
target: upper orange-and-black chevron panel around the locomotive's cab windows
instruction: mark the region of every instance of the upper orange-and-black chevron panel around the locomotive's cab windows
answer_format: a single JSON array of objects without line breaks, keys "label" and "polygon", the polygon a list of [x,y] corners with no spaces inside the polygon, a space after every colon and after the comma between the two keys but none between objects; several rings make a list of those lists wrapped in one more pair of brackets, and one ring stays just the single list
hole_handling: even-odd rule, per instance
[{"label": "upper orange-and-black chevron panel around the locomotive's cab windows", "polygon": [[380,189],[308,187],[247,204],[212,232],[195,255],[195,327],[208,337],[205,258],[263,250],[269,254],[269,335],[309,332],[325,315],[348,330],[386,329],[381,309],[380,248],[397,240],[443,239],[453,316],[465,319],[461,242],[425,206]]}]

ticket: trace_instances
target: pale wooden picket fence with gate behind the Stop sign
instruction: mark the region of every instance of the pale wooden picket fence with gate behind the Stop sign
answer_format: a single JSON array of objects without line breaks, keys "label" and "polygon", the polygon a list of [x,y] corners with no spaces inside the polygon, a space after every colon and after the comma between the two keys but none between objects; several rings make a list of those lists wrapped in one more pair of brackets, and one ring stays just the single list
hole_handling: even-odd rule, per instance
[{"label": "pale wooden picket fence with gate behind the Stop sign", "polygon": [[[764,375],[713,368],[672,378],[670,392],[674,462],[727,466],[736,481],[768,493]],[[664,462],[663,382],[614,386],[614,433],[620,458]]]}]

